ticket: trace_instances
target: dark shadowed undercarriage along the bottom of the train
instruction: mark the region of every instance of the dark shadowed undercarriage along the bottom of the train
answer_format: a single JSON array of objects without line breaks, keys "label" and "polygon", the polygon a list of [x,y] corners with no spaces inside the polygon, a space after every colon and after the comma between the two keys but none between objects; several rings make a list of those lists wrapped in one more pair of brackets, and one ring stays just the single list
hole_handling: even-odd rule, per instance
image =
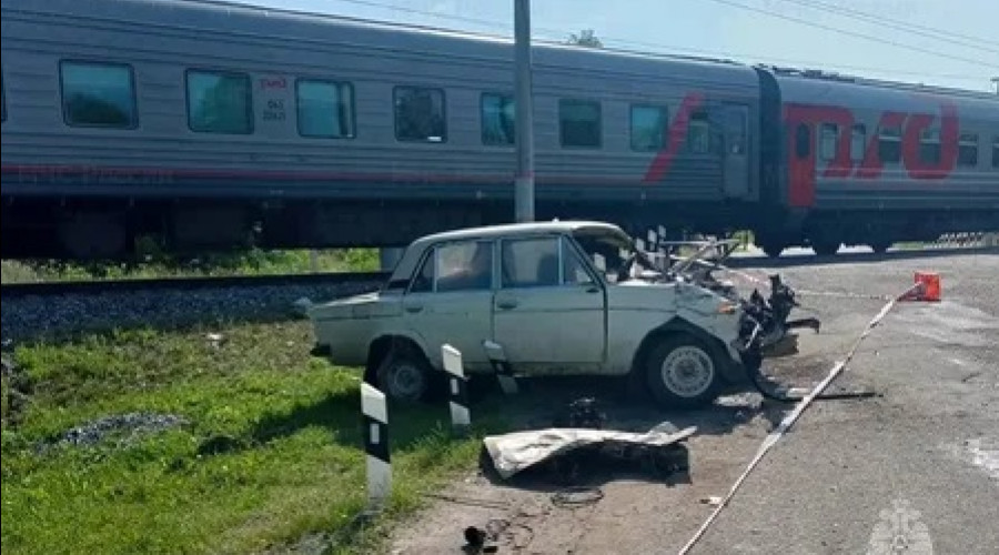
[{"label": "dark shadowed undercarriage along the bottom of the train", "polygon": [[[682,209],[677,206],[682,205]],[[196,256],[259,249],[393,248],[413,238],[508,222],[508,201],[214,201],[3,198],[2,258],[141,261],[150,251]],[[944,233],[999,229],[993,211],[764,213],[710,203],[537,203],[538,220],[592,219],[642,230],[665,228],[673,239],[690,233],[729,236],[751,230],[768,255],[810,246],[835,254],[840,245],[885,252],[901,241],[928,242]],[[754,219],[758,218],[758,219]]]}]

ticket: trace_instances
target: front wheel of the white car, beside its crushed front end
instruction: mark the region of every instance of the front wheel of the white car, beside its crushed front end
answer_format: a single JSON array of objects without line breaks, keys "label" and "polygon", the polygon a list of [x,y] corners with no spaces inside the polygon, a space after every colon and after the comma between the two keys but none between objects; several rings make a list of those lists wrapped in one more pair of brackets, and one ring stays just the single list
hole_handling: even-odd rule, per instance
[{"label": "front wheel of the white car, beside its crushed front end", "polygon": [[662,408],[697,408],[717,396],[720,364],[714,351],[697,337],[667,335],[649,352],[645,379]]}]

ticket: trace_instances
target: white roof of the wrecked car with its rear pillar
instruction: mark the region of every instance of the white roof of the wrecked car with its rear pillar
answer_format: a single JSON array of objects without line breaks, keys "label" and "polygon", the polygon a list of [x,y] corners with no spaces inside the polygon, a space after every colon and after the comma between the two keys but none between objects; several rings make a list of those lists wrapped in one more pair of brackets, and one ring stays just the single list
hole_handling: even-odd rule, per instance
[{"label": "white roof of the wrecked car with its rear pillar", "polygon": [[392,273],[391,281],[408,280],[416,270],[423,252],[431,245],[436,243],[445,243],[451,241],[470,241],[470,240],[494,240],[518,235],[531,235],[536,233],[574,233],[582,230],[603,231],[626,236],[625,232],[617,225],[607,222],[589,221],[589,220],[553,220],[546,222],[524,222],[524,223],[504,223],[497,225],[482,225],[477,228],[463,228],[458,230],[444,231],[431,235],[424,235],[410,243],[403,254],[402,260]]}]

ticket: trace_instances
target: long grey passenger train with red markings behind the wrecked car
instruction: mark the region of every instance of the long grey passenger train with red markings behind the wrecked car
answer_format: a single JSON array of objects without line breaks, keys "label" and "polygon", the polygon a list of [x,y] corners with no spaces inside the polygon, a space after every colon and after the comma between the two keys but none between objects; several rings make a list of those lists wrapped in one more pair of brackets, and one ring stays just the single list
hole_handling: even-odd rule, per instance
[{"label": "long grey passenger train with red markings behind the wrecked car", "polygon": [[[211,0],[6,0],[0,24],[3,259],[514,218],[508,38]],[[532,81],[537,219],[770,255],[999,230],[993,94],[557,43]]]}]

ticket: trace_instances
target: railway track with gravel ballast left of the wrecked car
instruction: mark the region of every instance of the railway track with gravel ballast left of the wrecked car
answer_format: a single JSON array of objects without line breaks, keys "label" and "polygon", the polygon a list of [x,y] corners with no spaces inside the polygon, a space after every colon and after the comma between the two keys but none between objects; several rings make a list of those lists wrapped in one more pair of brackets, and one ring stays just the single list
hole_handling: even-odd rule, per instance
[{"label": "railway track with gravel ballast left of the wrecked car", "polygon": [[3,284],[0,337],[7,345],[82,332],[289,320],[301,315],[301,299],[374,291],[386,278],[363,272]]}]

